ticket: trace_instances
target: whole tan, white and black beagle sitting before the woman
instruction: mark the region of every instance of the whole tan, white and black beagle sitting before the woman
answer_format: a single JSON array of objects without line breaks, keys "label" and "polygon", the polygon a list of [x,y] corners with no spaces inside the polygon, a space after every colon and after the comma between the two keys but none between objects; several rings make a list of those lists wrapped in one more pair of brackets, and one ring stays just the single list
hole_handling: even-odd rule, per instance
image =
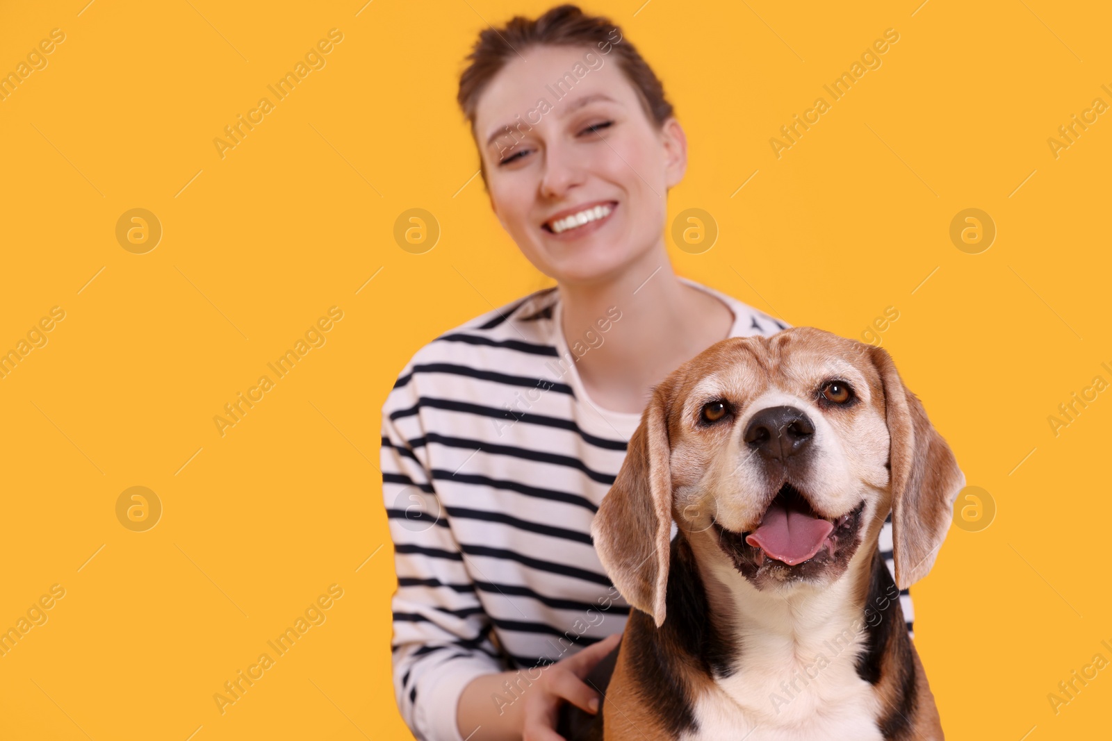
[{"label": "whole tan, white and black beagle sitting before the woman", "polygon": [[964,485],[881,348],[795,327],[677,368],[592,524],[635,608],[604,738],[942,739],[898,590],[931,570]]}]

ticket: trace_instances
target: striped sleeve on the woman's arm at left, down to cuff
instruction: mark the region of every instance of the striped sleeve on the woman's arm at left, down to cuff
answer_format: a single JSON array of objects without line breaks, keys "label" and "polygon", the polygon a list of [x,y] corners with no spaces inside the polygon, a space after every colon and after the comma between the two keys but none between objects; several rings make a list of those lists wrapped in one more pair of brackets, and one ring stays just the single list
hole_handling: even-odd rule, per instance
[{"label": "striped sleeve on the woman's arm at left, down to cuff", "polygon": [[394,693],[421,741],[463,741],[456,708],[476,677],[503,671],[436,491],[411,366],[383,407],[383,497],[394,541]]}]

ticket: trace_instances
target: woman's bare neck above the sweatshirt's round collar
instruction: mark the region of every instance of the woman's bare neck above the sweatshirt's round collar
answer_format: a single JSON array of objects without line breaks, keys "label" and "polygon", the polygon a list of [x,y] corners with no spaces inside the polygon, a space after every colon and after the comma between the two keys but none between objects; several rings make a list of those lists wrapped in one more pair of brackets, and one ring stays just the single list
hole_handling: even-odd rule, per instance
[{"label": "woman's bare neck above the sweatshirt's round collar", "polygon": [[[576,363],[579,378],[612,411],[639,413],[654,384],[728,337],[734,322],[725,303],[679,280],[663,243],[612,280],[559,290],[564,339],[573,356],[577,342],[587,349]],[[599,320],[609,322],[606,332]]]}]

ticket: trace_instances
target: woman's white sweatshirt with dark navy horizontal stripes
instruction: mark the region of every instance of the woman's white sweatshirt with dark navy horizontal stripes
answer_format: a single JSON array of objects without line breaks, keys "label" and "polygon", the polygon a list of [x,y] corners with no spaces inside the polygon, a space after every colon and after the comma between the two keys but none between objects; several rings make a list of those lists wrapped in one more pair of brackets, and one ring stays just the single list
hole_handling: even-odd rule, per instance
[{"label": "woman's white sweatshirt with dark navy horizontal stripes", "polygon": [[[731,337],[787,328],[681,280],[729,307]],[[421,741],[463,741],[456,707],[476,677],[564,659],[619,632],[629,613],[595,553],[590,520],[641,414],[599,407],[576,370],[620,327],[622,312],[612,308],[568,347],[559,306],[558,288],[543,289],[437,337],[406,363],[383,405],[383,495],[398,578],[394,690]],[[894,574],[891,520],[881,550]],[[901,604],[910,631],[906,590]],[[492,707],[515,702],[528,680],[523,672]]]}]

